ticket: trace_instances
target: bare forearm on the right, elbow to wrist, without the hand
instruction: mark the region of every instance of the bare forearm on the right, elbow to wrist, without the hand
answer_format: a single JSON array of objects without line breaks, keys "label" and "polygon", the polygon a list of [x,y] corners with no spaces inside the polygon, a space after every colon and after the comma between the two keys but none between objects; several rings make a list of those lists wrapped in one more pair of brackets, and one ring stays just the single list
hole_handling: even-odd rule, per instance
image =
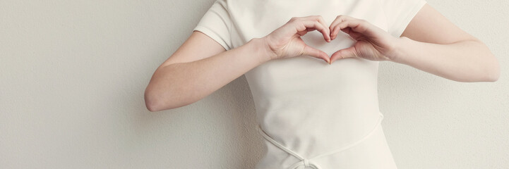
[{"label": "bare forearm on the right, elbow to wrist, without the hand", "polygon": [[417,42],[401,37],[391,61],[457,82],[494,82],[500,68],[488,47],[478,41],[453,44]]}]

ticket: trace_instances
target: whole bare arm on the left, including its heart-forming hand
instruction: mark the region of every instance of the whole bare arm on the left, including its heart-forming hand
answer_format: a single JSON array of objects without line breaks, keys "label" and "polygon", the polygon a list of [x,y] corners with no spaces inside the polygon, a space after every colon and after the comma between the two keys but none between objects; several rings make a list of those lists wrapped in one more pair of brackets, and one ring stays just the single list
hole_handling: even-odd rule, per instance
[{"label": "whole bare arm on the left, including its heart-forming hand", "polygon": [[306,55],[329,62],[325,52],[300,38],[318,30],[330,41],[326,27],[321,16],[294,17],[269,35],[228,51],[195,31],[155,70],[145,89],[145,105],[149,111],[162,111],[192,104],[272,59]]}]

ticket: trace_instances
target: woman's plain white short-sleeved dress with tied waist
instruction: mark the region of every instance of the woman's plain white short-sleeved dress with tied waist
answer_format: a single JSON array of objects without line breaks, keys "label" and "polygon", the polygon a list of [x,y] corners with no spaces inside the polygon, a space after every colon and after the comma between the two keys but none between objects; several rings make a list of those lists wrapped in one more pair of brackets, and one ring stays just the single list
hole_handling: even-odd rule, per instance
[{"label": "woman's plain white short-sleeved dress with tied waist", "polygon": [[[337,15],[364,19],[400,37],[424,0],[217,0],[194,30],[233,49],[264,37],[292,17]],[[302,37],[329,56],[354,44],[340,33],[325,42],[318,31]],[[243,57],[239,55],[239,57]],[[266,153],[265,168],[397,168],[378,109],[378,61],[345,58],[329,65],[311,56],[277,59],[246,75]]]}]

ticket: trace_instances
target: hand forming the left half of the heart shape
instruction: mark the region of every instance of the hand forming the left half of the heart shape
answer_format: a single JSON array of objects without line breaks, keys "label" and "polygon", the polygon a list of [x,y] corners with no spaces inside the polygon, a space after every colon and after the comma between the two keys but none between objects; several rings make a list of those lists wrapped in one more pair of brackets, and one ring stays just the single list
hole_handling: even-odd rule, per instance
[{"label": "hand forming the left half of the heart shape", "polygon": [[324,51],[308,46],[301,39],[301,36],[313,30],[321,32],[325,41],[330,42],[329,27],[325,25],[321,15],[293,17],[285,25],[270,32],[263,39],[265,44],[267,44],[268,51],[274,53],[271,56],[272,59],[309,55],[330,63],[330,58]]}]

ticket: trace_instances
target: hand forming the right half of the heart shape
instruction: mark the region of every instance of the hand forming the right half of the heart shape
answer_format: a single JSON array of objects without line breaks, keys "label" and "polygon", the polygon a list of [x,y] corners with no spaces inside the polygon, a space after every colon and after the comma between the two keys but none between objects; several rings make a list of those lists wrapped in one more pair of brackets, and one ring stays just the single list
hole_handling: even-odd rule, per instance
[{"label": "hand forming the right half of the heart shape", "polygon": [[330,56],[330,63],[341,58],[365,58],[371,61],[391,61],[395,56],[397,38],[366,20],[338,15],[330,24],[330,37],[335,39],[341,30],[357,40],[349,48],[336,51]]}]

